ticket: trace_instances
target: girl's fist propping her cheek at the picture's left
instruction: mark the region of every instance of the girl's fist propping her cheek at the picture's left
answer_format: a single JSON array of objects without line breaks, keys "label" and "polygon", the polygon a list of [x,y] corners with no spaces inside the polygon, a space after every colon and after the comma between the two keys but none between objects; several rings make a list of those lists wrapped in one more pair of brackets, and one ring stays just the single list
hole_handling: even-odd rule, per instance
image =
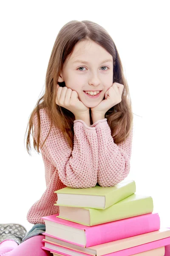
[{"label": "girl's fist propping her cheek at the picture's left", "polygon": [[68,109],[74,116],[79,116],[80,114],[88,113],[89,109],[86,107],[79,99],[78,93],[68,87],[61,87],[57,84],[57,96],[56,104]]}]

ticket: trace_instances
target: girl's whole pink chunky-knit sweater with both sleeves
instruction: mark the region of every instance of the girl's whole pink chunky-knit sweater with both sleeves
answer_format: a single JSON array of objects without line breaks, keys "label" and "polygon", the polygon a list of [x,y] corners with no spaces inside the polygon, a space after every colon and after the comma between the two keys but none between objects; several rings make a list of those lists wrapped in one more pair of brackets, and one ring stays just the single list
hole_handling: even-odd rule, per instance
[{"label": "girl's whole pink chunky-knit sweater with both sleeves", "polygon": [[[37,114],[33,119],[34,138],[37,141]],[[50,119],[44,109],[40,110],[40,148],[49,129]],[[126,142],[116,145],[111,136],[107,119],[96,121],[91,127],[82,120],[74,121],[74,148],[71,150],[62,132],[52,126],[41,148],[45,166],[46,189],[27,213],[32,224],[45,222],[42,216],[57,214],[54,191],[65,186],[88,188],[114,186],[124,180],[130,171],[133,129]]]}]

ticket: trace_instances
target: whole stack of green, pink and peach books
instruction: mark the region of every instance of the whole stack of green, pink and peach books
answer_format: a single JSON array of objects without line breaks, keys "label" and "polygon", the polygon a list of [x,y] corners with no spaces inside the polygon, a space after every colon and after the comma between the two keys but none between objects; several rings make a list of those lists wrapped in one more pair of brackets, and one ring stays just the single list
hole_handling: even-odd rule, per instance
[{"label": "whole stack of green, pink and peach books", "polygon": [[170,229],[160,227],[153,199],[135,192],[134,180],[55,191],[59,214],[42,217],[41,248],[54,256],[164,256]]}]

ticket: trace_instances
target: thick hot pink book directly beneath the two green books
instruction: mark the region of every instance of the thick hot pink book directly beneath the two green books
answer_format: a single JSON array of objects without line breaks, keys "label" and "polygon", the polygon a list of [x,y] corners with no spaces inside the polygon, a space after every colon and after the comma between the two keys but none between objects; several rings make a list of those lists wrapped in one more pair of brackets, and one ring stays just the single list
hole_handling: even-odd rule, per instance
[{"label": "thick hot pink book directly beneath the two green books", "polygon": [[65,244],[71,243],[80,247],[90,247],[119,239],[125,239],[144,233],[159,230],[158,213],[148,213],[119,221],[112,221],[92,227],[72,221],[56,218],[58,214],[42,217],[45,221],[45,239]]}]

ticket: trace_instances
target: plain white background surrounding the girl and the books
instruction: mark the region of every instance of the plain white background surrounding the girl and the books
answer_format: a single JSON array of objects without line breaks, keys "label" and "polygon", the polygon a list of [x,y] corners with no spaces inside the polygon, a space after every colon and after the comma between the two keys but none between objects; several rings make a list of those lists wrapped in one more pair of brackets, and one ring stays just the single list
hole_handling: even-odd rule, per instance
[{"label": "plain white background surrounding the girl and the books", "polygon": [[[169,1],[0,2],[0,223],[29,231],[28,209],[45,191],[41,154],[24,136],[59,30],[70,20],[103,26],[116,44],[134,113],[130,174],[136,193],[153,198],[161,226],[170,227]],[[33,148],[33,144],[32,144]]]}]

